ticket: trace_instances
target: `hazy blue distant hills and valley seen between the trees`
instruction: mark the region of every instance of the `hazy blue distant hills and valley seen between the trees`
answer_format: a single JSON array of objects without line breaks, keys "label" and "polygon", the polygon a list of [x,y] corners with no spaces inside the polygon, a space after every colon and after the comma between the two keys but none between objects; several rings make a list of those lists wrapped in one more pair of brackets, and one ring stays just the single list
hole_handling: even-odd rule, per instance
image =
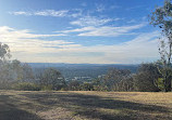
[{"label": "hazy blue distant hills and valley seen between the trees", "polygon": [[63,64],[63,63],[28,63],[35,72],[38,69],[45,69],[47,67],[54,67],[65,78],[74,77],[91,77],[97,78],[100,75],[106,75],[110,68],[130,69],[132,72],[136,72],[138,65],[119,65],[119,64]]}]

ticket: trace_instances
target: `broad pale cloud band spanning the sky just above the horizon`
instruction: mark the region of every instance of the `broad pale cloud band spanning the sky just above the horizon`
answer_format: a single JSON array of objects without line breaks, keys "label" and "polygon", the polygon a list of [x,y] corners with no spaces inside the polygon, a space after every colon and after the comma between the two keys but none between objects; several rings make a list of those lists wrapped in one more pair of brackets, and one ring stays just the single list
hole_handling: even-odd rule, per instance
[{"label": "broad pale cloud band spanning the sky just above the horizon", "polygon": [[[26,36],[23,37],[23,34]],[[84,46],[64,40],[45,41],[28,30],[0,27],[1,42],[10,45],[13,58],[40,63],[136,64],[150,62],[158,58],[157,36],[158,32],[155,31],[140,34],[135,39],[120,44]]]}]

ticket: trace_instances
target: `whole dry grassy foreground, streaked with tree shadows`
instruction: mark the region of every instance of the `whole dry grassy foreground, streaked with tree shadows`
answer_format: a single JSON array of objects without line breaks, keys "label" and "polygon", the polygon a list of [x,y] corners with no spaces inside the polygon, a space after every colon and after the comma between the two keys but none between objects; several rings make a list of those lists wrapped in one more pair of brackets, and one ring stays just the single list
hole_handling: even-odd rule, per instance
[{"label": "whole dry grassy foreground, streaked with tree shadows", "polygon": [[172,93],[0,91],[0,120],[172,120]]}]

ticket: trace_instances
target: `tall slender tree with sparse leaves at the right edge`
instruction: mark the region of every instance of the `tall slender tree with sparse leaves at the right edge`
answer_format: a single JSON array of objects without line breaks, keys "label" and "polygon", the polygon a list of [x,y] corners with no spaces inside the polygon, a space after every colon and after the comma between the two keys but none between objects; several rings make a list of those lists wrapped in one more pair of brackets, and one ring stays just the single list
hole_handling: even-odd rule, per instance
[{"label": "tall slender tree with sparse leaves at the right edge", "polygon": [[[157,6],[150,15],[150,24],[158,26],[161,29],[159,53],[161,56],[161,64],[159,71],[165,92],[171,91],[172,79],[172,3],[171,0],[164,0],[163,6]],[[157,81],[158,83],[158,81]]]}]

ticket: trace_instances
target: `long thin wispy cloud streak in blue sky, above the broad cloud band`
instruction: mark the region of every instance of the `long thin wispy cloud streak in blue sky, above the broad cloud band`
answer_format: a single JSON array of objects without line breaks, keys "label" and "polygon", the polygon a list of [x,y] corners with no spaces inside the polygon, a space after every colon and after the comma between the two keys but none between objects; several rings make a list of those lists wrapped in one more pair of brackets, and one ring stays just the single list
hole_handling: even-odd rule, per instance
[{"label": "long thin wispy cloud streak in blue sky, above the broad cloud band", "polygon": [[89,27],[57,31],[57,32],[63,32],[63,34],[77,32],[77,36],[85,36],[85,37],[118,37],[118,36],[122,36],[122,35],[132,35],[132,32],[131,32],[132,30],[139,29],[146,25],[147,25],[146,23],[142,23],[138,25],[121,26],[121,27],[89,26]]}]

